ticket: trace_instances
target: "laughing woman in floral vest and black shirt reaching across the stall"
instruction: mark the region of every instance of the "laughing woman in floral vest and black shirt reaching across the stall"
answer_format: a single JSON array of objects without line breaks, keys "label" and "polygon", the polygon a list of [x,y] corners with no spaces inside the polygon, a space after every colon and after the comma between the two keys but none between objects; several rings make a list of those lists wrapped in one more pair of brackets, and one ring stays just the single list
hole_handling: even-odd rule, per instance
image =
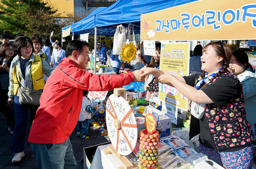
[{"label": "laughing woman in floral vest and black shirt reaching across the stall", "polygon": [[199,134],[199,152],[227,169],[251,169],[253,132],[245,118],[242,85],[227,70],[231,54],[226,43],[210,42],[201,56],[203,75],[175,77],[164,70],[142,68],[141,76],[153,74],[192,101],[189,138]]}]

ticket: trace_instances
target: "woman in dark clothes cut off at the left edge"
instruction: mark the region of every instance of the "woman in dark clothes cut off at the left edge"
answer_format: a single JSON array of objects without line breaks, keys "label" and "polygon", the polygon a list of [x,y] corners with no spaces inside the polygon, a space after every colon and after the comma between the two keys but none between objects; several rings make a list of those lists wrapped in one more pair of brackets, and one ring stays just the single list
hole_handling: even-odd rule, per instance
[{"label": "woman in dark clothes cut off at the left edge", "polygon": [[14,110],[6,104],[8,100],[9,70],[14,56],[11,43],[4,43],[0,48],[0,111],[6,117],[8,130],[14,131]]}]

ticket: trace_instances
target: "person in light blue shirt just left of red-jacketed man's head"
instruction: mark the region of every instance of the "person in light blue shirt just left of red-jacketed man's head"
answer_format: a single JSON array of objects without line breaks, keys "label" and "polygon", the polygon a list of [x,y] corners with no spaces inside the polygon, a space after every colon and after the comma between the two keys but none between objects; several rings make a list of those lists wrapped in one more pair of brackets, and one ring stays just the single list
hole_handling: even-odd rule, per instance
[{"label": "person in light blue shirt just left of red-jacketed man's head", "polygon": [[52,58],[51,58],[51,67],[53,66],[58,66],[58,64],[61,63],[61,60],[65,57],[65,51],[62,49],[61,42],[56,42],[55,45],[53,46],[55,51],[52,53]]}]

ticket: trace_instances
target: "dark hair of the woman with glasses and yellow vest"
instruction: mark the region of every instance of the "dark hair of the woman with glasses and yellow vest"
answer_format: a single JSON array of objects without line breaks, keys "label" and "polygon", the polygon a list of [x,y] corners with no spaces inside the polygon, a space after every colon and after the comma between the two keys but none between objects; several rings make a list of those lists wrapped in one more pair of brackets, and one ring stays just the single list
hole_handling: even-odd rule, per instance
[{"label": "dark hair of the woman with glasses and yellow vest", "polygon": [[14,53],[21,56],[20,54],[20,48],[23,46],[27,46],[27,43],[29,42],[29,44],[32,46],[32,53],[34,53],[35,49],[33,47],[33,42],[31,39],[29,39],[29,37],[25,37],[25,36],[19,36],[16,37],[12,43],[12,46],[14,48]]}]

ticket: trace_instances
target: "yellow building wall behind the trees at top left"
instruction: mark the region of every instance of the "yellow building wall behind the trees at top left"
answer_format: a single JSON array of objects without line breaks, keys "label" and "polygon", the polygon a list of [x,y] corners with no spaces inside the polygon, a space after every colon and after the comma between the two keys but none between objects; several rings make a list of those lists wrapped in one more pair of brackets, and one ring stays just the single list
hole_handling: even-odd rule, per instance
[{"label": "yellow building wall behind the trees at top left", "polygon": [[[44,0],[47,2],[50,6],[52,6],[54,9],[57,9],[56,12],[58,17],[69,17],[70,15],[67,14],[73,14],[74,16],[74,0]],[[79,1],[79,0],[75,0]]]}]

